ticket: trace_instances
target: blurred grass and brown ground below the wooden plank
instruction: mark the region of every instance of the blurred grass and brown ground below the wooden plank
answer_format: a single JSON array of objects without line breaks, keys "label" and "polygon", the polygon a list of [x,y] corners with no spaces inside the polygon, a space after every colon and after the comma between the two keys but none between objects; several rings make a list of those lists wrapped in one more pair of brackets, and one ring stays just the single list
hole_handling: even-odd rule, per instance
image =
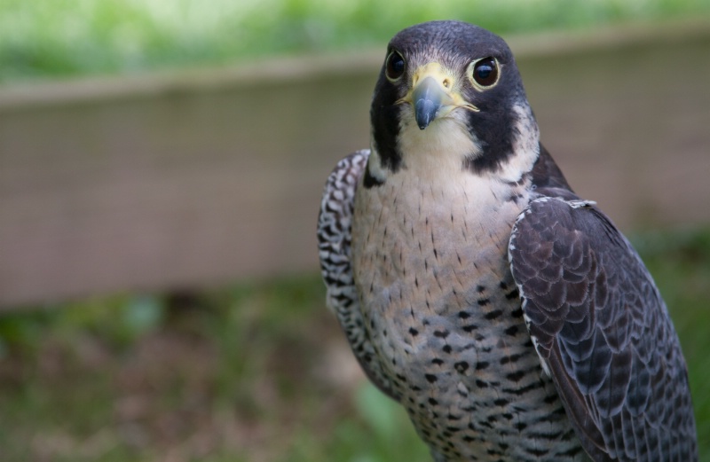
[{"label": "blurred grass and brown ground below the wooden plank", "polygon": [[[634,239],[690,369],[710,460],[710,228]],[[318,275],[0,317],[0,460],[429,461],[362,380]]]}]

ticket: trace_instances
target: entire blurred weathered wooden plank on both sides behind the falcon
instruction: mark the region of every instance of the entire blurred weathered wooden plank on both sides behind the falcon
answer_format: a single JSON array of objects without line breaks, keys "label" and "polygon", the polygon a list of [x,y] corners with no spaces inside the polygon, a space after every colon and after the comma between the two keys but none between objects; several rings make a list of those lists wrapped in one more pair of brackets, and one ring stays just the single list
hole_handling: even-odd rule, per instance
[{"label": "entire blurred weathered wooden plank on both sides behind the falcon", "polygon": [[[710,34],[684,36],[519,56],[543,141],[627,230],[710,221]],[[315,270],[379,54],[0,91],[0,307]]]}]

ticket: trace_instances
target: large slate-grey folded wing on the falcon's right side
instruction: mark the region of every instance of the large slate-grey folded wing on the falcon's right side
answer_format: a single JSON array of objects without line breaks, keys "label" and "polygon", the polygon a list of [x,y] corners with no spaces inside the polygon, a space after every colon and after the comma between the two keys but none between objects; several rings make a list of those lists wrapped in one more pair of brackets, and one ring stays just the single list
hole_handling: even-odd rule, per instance
[{"label": "large slate-grey folded wing on the falcon's right side", "polygon": [[518,216],[509,262],[540,361],[589,455],[697,460],[674,327],[609,218],[591,202],[539,197]]}]

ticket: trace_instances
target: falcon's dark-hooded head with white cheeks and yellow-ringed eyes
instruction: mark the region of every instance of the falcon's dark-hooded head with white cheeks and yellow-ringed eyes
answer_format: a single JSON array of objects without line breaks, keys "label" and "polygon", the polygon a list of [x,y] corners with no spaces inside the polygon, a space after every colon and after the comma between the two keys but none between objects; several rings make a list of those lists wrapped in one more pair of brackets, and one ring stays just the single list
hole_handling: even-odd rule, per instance
[{"label": "falcon's dark-hooded head with white cheeks and yellow-ringed eyes", "polygon": [[370,184],[400,168],[455,168],[517,181],[540,152],[508,45],[464,22],[426,22],[392,38],[370,117]]}]

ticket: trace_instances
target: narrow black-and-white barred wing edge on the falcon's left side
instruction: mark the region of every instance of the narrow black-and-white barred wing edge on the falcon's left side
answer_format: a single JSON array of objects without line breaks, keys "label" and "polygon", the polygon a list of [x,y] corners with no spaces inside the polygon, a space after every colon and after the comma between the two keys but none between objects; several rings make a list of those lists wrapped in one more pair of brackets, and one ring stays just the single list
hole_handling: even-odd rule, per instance
[{"label": "narrow black-and-white barred wing edge on the falcon's left side", "polygon": [[339,161],[327,177],[318,215],[320,272],[326,283],[327,307],[338,318],[363,371],[377,388],[398,400],[367,337],[350,262],[355,190],[369,155],[369,150],[352,153]]}]

